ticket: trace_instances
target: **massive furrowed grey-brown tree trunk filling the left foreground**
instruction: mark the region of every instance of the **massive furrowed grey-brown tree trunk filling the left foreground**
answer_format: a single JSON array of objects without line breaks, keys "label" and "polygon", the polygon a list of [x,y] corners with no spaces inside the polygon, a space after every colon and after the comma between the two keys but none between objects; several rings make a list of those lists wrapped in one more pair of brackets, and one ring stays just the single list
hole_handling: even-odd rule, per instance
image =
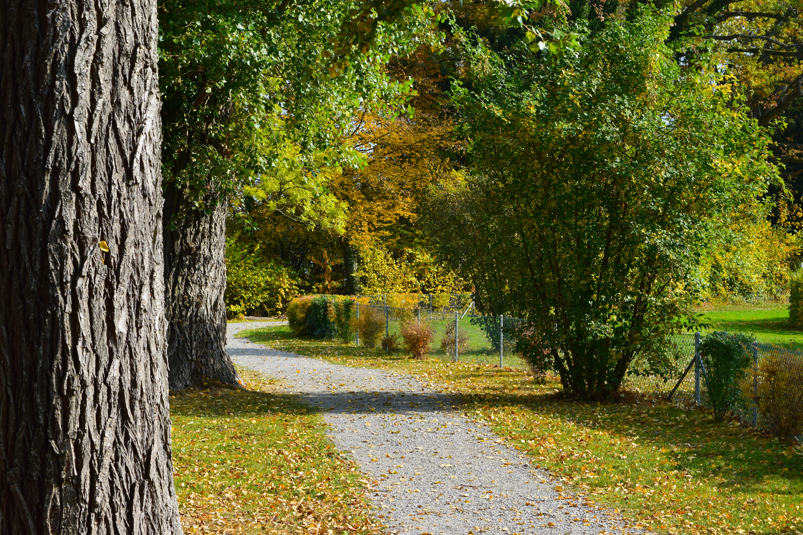
[{"label": "massive furrowed grey-brown tree trunk filling the left foreground", "polygon": [[181,533],[154,0],[0,3],[0,533]]}]

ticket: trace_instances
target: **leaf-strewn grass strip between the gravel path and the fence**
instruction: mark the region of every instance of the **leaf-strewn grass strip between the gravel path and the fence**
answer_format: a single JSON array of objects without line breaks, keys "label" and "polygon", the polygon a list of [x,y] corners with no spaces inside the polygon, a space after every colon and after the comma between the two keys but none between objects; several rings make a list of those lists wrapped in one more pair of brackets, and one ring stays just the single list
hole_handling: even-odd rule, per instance
[{"label": "leaf-strewn grass strip between the gravel path and the fence", "polygon": [[246,334],[282,351],[393,369],[462,396],[494,428],[577,496],[662,533],[803,531],[803,448],[705,411],[631,396],[620,403],[563,399],[556,383],[515,370],[415,361],[404,355],[292,338],[287,327]]}]

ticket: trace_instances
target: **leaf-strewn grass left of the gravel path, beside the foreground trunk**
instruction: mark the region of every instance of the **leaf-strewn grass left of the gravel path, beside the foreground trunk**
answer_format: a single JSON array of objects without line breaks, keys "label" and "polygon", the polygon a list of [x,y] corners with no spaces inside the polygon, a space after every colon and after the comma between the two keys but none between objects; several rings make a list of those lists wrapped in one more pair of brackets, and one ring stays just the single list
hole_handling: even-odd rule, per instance
[{"label": "leaf-strewn grass left of the gravel path, beside the foreground trunk", "polygon": [[239,372],[247,391],[170,396],[185,533],[380,533],[361,472],[328,442],[320,414]]}]

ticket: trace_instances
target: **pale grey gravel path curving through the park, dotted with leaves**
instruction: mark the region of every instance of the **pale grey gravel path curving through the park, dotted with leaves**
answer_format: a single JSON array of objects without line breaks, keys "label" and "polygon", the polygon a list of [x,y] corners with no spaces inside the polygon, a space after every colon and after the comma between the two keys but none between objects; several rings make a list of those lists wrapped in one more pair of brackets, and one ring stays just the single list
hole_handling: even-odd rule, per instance
[{"label": "pale grey gravel path curving through the park, dotted with leaves", "polygon": [[[276,323],[273,323],[276,324]],[[320,407],[338,447],[376,483],[371,497],[389,533],[643,533],[613,511],[560,499],[558,484],[456,401],[407,375],[283,353],[234,338],[266,322],[228,326],[235,363],[283,379]]]}]

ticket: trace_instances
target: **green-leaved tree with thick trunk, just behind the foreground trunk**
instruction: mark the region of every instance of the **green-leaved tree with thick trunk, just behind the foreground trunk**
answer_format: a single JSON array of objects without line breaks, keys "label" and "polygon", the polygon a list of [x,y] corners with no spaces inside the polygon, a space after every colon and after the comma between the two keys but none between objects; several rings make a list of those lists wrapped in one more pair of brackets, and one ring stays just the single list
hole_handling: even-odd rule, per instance
[{"label": "green-leaved tree with thick trunk, just behind the foreground trunk", "polygon": [[382,65],[427,20],[407,1],[271,3],[170,0],[160,12],[172,388],[238,383],[224,348],[230,193],[271,175],[287,140],[315,152],[357,108],[400,107],[407,85]]}]

